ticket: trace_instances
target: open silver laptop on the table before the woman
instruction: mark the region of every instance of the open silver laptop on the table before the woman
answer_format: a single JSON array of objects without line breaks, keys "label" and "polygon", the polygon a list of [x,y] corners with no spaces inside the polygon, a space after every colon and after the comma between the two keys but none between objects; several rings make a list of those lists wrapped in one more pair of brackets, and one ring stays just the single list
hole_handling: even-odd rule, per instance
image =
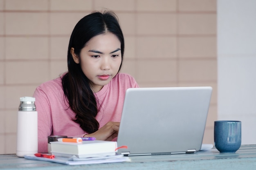
[{"label": "open silver laptop on the table before the woman", "polygon": [[117,145],[119,154],[169,155],[199,151],[211,87],[129,88]]}]

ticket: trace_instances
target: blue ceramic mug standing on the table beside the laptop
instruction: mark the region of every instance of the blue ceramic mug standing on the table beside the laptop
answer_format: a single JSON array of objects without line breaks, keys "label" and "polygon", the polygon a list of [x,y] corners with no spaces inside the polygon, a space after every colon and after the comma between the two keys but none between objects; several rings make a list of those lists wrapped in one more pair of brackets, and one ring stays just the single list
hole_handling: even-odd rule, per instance
[{"label": "blue ceramic mug standing on the table beside the laptop", "polygon": [[241,121],[214,121],[214,145],[222,153],[234,153],[241,146]]}]

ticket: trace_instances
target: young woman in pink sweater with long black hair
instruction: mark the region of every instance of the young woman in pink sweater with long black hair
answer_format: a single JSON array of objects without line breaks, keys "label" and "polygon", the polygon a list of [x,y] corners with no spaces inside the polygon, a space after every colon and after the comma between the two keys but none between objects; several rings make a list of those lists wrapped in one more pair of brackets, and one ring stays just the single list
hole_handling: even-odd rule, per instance
[{"label": "young woman in pink sweater with long black hair", "polygon": [[68,72],[34,93],[38,111],[38,152],[49,135],[115,140],[127,88],[138,84],[119,73],[124,35],[113,12],[94,12],[74,27],[67,51]]}]

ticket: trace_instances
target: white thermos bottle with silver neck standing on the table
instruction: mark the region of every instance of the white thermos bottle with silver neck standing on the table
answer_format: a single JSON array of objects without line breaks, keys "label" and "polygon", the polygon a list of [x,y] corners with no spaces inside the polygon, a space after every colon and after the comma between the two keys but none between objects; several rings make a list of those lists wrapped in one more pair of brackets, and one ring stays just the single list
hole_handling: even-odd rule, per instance
[{"label": "white thermos bottle with silver neck standing on the table", "polygon": [[38,152],[37,111],[34,97],[20,97],[17,124],[16,155],[35,154]]}]

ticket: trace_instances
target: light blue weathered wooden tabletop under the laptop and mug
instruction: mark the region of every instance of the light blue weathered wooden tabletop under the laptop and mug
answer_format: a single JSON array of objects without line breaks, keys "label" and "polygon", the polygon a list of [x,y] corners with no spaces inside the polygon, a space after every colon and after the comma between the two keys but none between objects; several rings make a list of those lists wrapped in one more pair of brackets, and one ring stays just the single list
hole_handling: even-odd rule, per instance
[{"label": "light blue weathered wooden tabletop under the laptop and mug", "polygon": [[0,155],[0,170],[256,170],[256,145],[242,145],[236,153],[215,148],[194,154],[137,156],[131,162],[68,166]]}]

